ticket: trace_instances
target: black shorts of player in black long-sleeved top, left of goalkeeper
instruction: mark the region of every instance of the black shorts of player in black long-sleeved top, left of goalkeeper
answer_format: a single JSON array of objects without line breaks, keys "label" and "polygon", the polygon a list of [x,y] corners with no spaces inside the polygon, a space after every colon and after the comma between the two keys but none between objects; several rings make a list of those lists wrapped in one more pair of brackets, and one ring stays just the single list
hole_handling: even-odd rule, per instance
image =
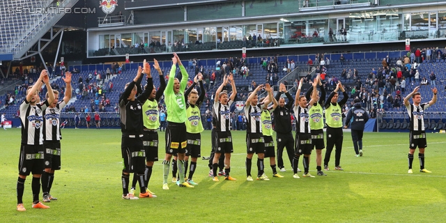
[{"label": "black shorts of player in black long-sleeved top, left of goalkeeper", "polygon": [[122,137],[123,172],[142,173],[146,169],[146,151],[144,151],[142,137],[142,134]]}]

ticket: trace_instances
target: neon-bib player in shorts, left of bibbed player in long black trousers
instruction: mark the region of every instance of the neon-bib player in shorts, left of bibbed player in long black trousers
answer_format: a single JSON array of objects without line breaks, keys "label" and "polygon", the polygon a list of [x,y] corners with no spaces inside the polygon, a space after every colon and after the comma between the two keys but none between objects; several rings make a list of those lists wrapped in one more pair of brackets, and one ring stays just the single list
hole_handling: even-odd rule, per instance
[{"label": "neon-bib player in shorts, left of bibbed player in long black trousers", "polygon": [[[321,96],[319,96],[319,92],[316,92],[316,102],[309,108],[309,127],[312,130],[312,148],[316,148],[316,169],[318,171],[318,176],[327,176],[322,171],[322,150],[325,148],[325,143],[323,141],[323,105],[325,103],[325,89],[322,86],[321,77],[318,75],[318,85],[321,89]],[[313,91],[317,91],[311,86],[307,93],[305,94],[305,98],[307,101],[311,100],[310,95],[312,95]]]}]

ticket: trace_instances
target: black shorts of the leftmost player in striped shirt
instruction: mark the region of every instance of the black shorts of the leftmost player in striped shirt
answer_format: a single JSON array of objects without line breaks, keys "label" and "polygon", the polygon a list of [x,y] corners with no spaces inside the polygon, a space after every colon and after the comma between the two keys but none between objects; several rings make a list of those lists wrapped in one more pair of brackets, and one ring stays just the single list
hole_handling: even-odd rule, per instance
[{"label": "black shorts of the leftmost player in striped shirt", "polygon": [[45,169],[45,153],[43,145],[20,145],[19,175],[29,176],[29,173],[42,174]]}]

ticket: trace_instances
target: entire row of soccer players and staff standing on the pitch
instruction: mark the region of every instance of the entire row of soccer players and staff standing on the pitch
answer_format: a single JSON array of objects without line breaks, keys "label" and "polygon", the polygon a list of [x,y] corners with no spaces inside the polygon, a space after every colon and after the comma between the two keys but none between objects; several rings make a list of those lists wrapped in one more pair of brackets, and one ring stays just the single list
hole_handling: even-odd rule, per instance
[{"label": "entire row of soccer players and staff standing on the pitch", "polygon": [[[176,67],[180,68],[180,79],[176,76]],[[169,190],[168,178],[172,166],[172,181],[179,187],[194,187],[198,183],[193,180],[197,169],[197,158],[201,157],[201,132],[203,125],[199,107],[205,98],[203,76],[199,73],[193,78],[192,86],[187,88],[187,74],[177,54],[172,58],[172,67],[166,83],[162,70],[156,60],[153,68],[157,70],[160,86],[157,89],[153,84],[151,66],[144,60],[139,67],[137,75],[132,82],[125,85],[125,91],[118,102],[121,118],[121,155],[123,161],[122,188],[123,199],[155,198],[155,193],[148,189],[153,164],[158,157],[158,134],[160,127],[160,111],[158,102],[164,95],[167,111],[167,128],[165,133],[165,155],[162,159],[163,183],[162,189]],[[141,88],[142,79],[146,75],[147,84]],[[32,87],[26,91],[26,97],[20,105],[20,120],[22,122],[22,141],[20,146],[19,177],[17,179],[17,210],[24,211],[22,197],[26,176],[32,174],[31,190],[33,193],[32,208],[49,208],[40,202],[40,187],[43,192],[43,202],[56,200],[50,190],[54,181],[54,171],[61,169],[61,132],[59,118],[61,110],[71,98],[71,73],[66,72],[63,78],[66,83],[66,94],[63,100],[58,100],[59,92],[52,90],[49,84],[48,73],[43,70],[40,77]],[[40,102],[38,90],[45,84],[47,94],[45,100]],[[231,85],[231,94],[226,86]],[[353,147],[357,156],[362,156],[362,134],[364,125],[369,116],[361,107],[360,100],[355,98],[355,105],[348,111],[346,123],[342,121],[341,107],[348,101],[348,94],[341,82],[325,100],[325,90],[319,76],[316,76],[312,86],[301,95],[302,81],[295,93],[295,99],[286,90],[284,84],[279,85],[276,95],[269,84],[261,84],[249,93],[245,102],[245,116],[247,117],[246,145],[247,156],[245,161],[246,180],[253,181],[252,159],[257,155],[256,180],[270,180],[265,174],[264,161],[270,160],[272,176],[283,178],[279,171],[286,171],[282,154],[284,148],[289,157],[293,178],[300,178],[298,164],[303,155],[303,177],[314,178],[309,173],[310,157],[313,149],[316,150],[317,176],[326,176],[329,171],[330,156],[335,148],[334,170],[343,170],[341,167],[341,151],[344,139],[343,128],[351,126]],[[195,89],[199,85],[200,91]],[[187,88],[187,89],[186,89]],[[258,93],[264,89],[268,95],[259,98]],[[436,103],[437,89],[432,89],[433,97],[429,102],[421,102],[421,94],[416,87],[413,92],[404,98],[408,116],[410,117],[410,143],[408,153],[408,173],[413,173],[413,157],[415,149],[419,148],[420,171],[430,173],[425,169],[424,151],[427,146],[426,132],[424,130],[424,110]],[[343,98],[338,101],[339,91]],[[224,76],[222,84],[215,92],[213,103],[213,129],[211,130],[212,151],[208,167],[209,176],[214,181],[236,180],[231,173],[231,153],[233,153],[233,139],[231,136],[230,114],[231,105],[236,98],[237,89],[233,75]],[[283,96],[284,95],[284,96]],[[217,98],[218,97],[218,98]],[[288,99],[286,102],[285,97]],[[413,103],[409,100],[412,98]],[[292,133],[291,116],[295,118],[295,137]],[[322,159],[322,150],[325,148],[324,118],[326,125],[326,151]],[[276,132],[276,140],[272,138]],[[277,153],[275,151],[277,144]],[[277,164],[276,164],[277,155]],[[190,160],[190,167],[189,166]],[[189,175],[187,176],[187,170]],[[323,171],[324,170],[324,171]],[[133,179],[130,183],[130,174]],[[186,177],[187,176],[187,177]],[[135,196],[139,185],[139,196]]]}]

